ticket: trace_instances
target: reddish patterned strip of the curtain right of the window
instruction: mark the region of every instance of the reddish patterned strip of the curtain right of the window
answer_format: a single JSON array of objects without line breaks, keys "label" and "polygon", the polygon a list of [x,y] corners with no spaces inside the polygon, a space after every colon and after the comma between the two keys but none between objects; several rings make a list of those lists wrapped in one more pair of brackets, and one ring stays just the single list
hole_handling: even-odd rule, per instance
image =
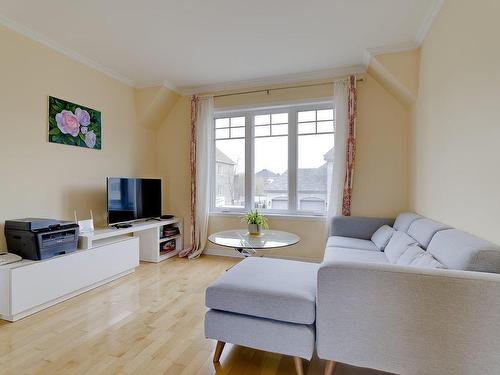
[{"label": "reddish patterned strip of the curtain right of the window", "polygon": [[352,184],[354,179],[354,160],[356,158],[356,77],[349,76],[347,85],[347,139],[346,172],[342,196],[342,215],[351,216]]}]

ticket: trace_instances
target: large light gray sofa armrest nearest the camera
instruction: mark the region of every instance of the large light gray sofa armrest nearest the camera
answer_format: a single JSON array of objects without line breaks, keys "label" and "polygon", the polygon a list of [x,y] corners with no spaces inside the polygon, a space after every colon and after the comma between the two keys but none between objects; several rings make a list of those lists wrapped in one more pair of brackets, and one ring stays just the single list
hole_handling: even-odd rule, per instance
[{"label": "large light gray sofa armrest nearest the camera", "polygon": [[324,262],[322,359],[398,374],[498,374],[500,275]]}]

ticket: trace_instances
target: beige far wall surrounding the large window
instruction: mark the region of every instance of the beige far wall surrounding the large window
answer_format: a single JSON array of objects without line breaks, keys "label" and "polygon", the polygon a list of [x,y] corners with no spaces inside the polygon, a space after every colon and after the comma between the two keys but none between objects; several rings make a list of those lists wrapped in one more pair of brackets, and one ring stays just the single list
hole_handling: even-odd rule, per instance
[{"label": "beige far wall surrounding the large window", "polygon": [[[332,85],[218,98],[217,108],[331,97]],[[353,214],[395,216],[408,208],[407,137],[409,113],[371,76],[359,84],[358,154]],[[160,127],[159,172],[166,182],[164,210],[189,222],[189,98],[180,98]],[[271,218],[275,229],[301,236],[296,246],[274,255],[319,260],[325,243],[324,220]],[[209,232],[241,227],[239,217],[212,216]],[[186,240],[188,236],[186,234]]]}]

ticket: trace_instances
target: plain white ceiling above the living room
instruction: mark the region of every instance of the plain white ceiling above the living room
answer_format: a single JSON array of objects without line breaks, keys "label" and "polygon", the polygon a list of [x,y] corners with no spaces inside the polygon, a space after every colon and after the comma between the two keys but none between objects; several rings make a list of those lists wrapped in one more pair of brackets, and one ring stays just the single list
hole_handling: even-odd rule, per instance
[{"label": "plain white ceiling above the living room", "polygon": [[0,0],[0,23],[131,85],[186,91],[361,66],[416,45],[438,2]]}]

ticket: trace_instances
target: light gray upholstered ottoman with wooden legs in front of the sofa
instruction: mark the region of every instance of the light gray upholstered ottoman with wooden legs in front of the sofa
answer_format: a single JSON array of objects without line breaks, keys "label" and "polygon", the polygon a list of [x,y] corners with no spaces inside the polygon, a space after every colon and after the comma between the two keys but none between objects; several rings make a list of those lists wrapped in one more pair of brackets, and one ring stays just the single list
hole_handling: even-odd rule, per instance
[{"label": "light gray upholstered ottoman with wooden legs in front of the sofa", "polygon": [[217,340],[214,362],[224,344],[302,358],[314,351],[318,264],[246,258],[206,290],[205,336]]}]

